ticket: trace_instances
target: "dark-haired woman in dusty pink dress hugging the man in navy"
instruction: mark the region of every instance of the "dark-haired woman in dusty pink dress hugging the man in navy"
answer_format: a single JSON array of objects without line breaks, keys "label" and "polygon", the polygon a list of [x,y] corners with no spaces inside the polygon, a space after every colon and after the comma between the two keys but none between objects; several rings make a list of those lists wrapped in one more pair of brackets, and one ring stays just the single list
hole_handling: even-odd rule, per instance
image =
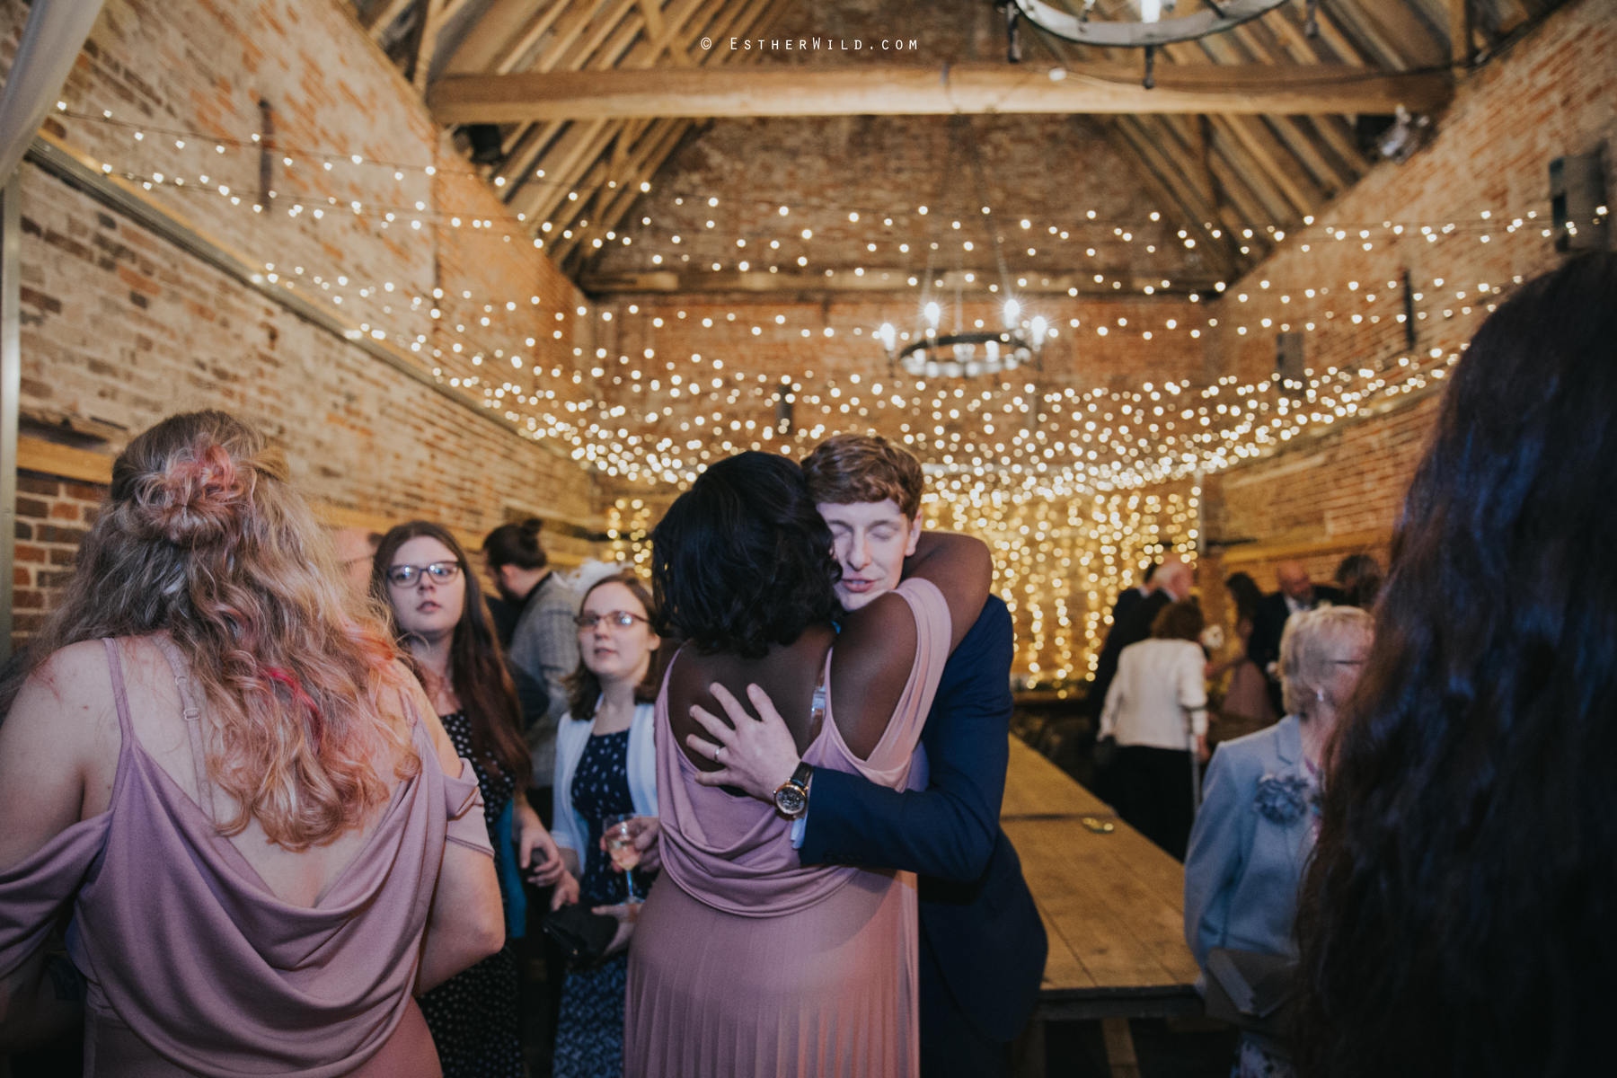
[{"label": "dark-haired woman in dusty pink dress hugging the man in navy", "polygon": [[[907,569],[833,625],[831,532],[778,454],[720,461],[657,527],[653,595],[686,643],[657,701],[665,879],[629,952],[627,1075],[915,1073],[912,881],[802,868],[792,844],[815,768],[923,784],[912,753],[991,564],[977,540],[925,532]],[[737,697],[783,714],[804,761],[773,805],[705,774],[723,745],[703,724],[726,705],[752,721]]]}]

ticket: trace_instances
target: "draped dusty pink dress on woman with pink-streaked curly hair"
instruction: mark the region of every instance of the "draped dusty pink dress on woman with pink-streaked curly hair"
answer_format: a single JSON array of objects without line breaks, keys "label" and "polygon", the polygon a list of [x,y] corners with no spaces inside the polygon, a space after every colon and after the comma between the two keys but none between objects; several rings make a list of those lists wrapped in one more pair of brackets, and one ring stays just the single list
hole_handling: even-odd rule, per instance
[{"label": "draped dusty pink dress on woman with pink-streaked curly hair", "polygon": [[288,905],[141,747],[105,643],[123,735],[112,806],[0,873],[0,975],[71,903],[86,1076],[440,1075],[411,989],[445,842],[493,853],[471,764],[443,774],[417,721],[420,774],[319,905]]}]

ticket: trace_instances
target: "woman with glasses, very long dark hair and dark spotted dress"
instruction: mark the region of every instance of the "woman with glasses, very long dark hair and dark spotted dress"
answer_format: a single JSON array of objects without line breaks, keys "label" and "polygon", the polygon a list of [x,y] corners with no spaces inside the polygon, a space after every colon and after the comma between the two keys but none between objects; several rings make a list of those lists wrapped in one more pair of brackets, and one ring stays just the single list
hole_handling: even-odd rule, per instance
[{"label": "woman with glasses, very long dark hair and dark spotted dress", "polygon": [[522,1078],[517,966],[511,937],[526,928],[522,874],[553,884],[564,868],[526,800],[530,774],[516,692],[483,611],[477,577],[448,528],[427,520],[388,532],[372,590],[393,614],[399,643],[456,750],[472,761],[500,868],[506,944],[420,999],[445,1078]]}]

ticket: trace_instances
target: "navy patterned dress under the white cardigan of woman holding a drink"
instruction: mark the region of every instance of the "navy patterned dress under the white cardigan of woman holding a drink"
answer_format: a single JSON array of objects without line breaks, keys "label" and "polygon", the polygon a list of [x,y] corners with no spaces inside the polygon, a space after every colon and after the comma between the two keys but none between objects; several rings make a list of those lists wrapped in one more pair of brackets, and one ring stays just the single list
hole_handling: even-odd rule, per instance
[{"label": "navy patterned dress under the white cardigan of woman holding a drink", "polygon": [[[579,905],[618,905],[629,897],[623,873],[600,849],[602,819],[634,811],[629,794],[629,731],[595,734],[584,748],[572,774],[572,810],[584,819],[587,836],[579,855]],[[635,874],[645,897],[645,884]],[[621,1078],[623,1000],[627,984],[629,952],[613,955],[598,966],[568,970],[561,984],[561,1015],[556,1020],[555,1078]]]}]

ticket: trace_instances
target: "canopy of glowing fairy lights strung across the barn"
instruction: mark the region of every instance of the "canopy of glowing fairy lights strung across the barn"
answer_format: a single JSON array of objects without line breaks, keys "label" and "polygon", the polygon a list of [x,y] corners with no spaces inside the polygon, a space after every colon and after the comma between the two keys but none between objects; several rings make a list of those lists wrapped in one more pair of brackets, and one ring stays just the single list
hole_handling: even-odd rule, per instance
[{"label": "canopy of glowing fairy lights strung across the barn", "polygon": [[[65,107],[60,112],[115,123],[110,115],[86,116]],[[228,162],[233,149],[257,154],[254,139],[215,139],[137,124],[126,129],[144,154],[168,154],[167,168],[103,163],[103,173],[147,189],[218,199],[243,213],[267,215],[265,223],[286,218],[299,229],[291,236],[272,233],[267,242],[286,242],[333,221],[374,234],[404,229],[404,236],[420,236],[424,242],[433,231],[458,228],[503,242],[530,238],[509,217],[443,210],[432,204],[430,194],[343,200],[330,192],[288,189],[268,208],[217,183],[222,166],[202,171],[191,158],[176,160],[202,150]],[[286,176],[306,165],[302,171],[315,183],[343,179],[344,166],[391,168],[395,183],[448,175],[433,165],[393,165],[364,155],[285,147],[275,154],[281,155]],[[480,178],[474,170],[464,175]],[[697,197],[678,196],[674,202],[682,207],[686,199]],[[817,239],[815,229],[787,223],[794,213],[797,220],[823,218],[826,207],[808,212],[770,204],[773,213],[750,207],[747,213],[737,212],[737,218],[755,220],[754,229],[729,236],[720,228],[720,205],[718,196],[697,204],[715,213],[705,217],[703,210],[694,236],[689,223],[665,228],[640,217],[632,234],[606,233],[605,239],[634,249],[635,259],[653,268],[673,259],[682,262],[699,247],[703,254],[694,260],[715,270],[813,265],[807,244]],[[980,254],[978,241],[952,239],[954,217],[938,217],[930,207],[904,213],[838,210],[842,213],[847,223],[833,233],[821,229],[820,239],[846,247],[863,228],[870,229],[862,244],[870,255],[896,252],[925,262],[928,254],[938,259],[931,242],[959,244],[962,259]],[[1028,241],[1028,257],[1061,260],[1067,272],[1075,272],[1077,251],[1093,259],[1103,242],[1184,244],[1184,249],[1195,242],[1185,231],[1155,220],[1155,213],[1150,223],[1101,221],[1093,212],[1075,212],[1074,220],[1058,223],[1033,215],[1007,217],[1012,236],[1040,238],[1036,244]],[[763,221],[773,221],[775,228],[765,228]],[[537,247],[550,234],[547,225],[542,221],[532,238]],[[925,239],[902,238],[906,225],[922,226]],[[359,320],[359,333],[419,356],[435,378],[498,411],[529,436],[564,446],[606,490],[621,495],[608,509],[611,543],[639,566],[648,556],[647,535],[660,507],[711,459],[741,449],[797,456],[841,430],[876,430],[901,440],[930,474],[928,525],[973,532],[993,546],[996,587],[1017,616],[1019,669],[1061,684],[1091,669],[1091,642],[1103,632],[1100,619],[1145,562],[1164,553],[1195,558],[1201,538],[1197,524],[1201,475],[1441,383],[1460,357],[1467,328],[1522,280],[1433,276],[1407,288],[1400,275],[1412,251],[1418,249],[1426,265],[1450,252],[1455,265],[1467,263],[1470,252],[1483,244],[1489,251],[1507,242],[1531,244],[1523,251],[1538,252],[1552,234],[1546,225],[1547,207],[1488,208],[1465,221],[1305,218],[1290,229],[1287,257],[1353,251],[1360,262],[1386,259],[1389,272],[1365,280],[1318,280],[1307,288],[1295,286],[1295,273],[1284,288],[1248,275],[1239,286],[1218,283],[1188,297],[1163,294],[1171,289],[1171,278],[1140,286],[1098,273],[1067,296],[1022,293],[975,302],[970,322],[977,328],[985,322],[993,325],[999,304],[1015,299],[1022,325],[1043,318],[1049,335],[1043,370],[1020,368],[1014,377],[977,380],[912,378],[888,370],[878,346],[880,322],[831,325],[831,309],[820,305],[724,310],[720,301],[699,304],[687,297],[684,307],[644,301],[644,309],[640,304],[590,309],[537,294],[474,296],[471,289],[429,291],[369,280],[343,267],[310,265],[314,255],[265,262],[264,273],[272,284],[317,294],[344,310]],[[561,236],[571,239],[569,231],[561,229]],[[1108,234],[1109,239],[1101,239]],[[1256,234],[1266,244],[1287,239],[1281,226]],[[707,260],[707,252],[718,247],[733,254]],[[758,263],[745,257],[754,251],[760,252]],[[778,262],[775,252],[781,252]],[[918,296],[923,270],[914,263],[910,268],[915,272],[907,284]],[[841,262],[828,272],[862,270]],[[1012,273],[1015,286],[1028,288],[1028,275],[1036,273],[1019,268]],[[998,291],[996,284],[991,288]],[[1134,302],[1095,302],[1121,296]],[[862,317],[873,302],[851,301],[846,307],[857,312],[851,317]],[[894,317],[918,299],[881,302],[891,309],[888,317],[894,323],[918,323],[914,312]],[[1416,320],[1420,347],[1407,343],[1410,317]],[[1171,347],[1221,333],[1239,344],[1243,338],[1292,331],[1319,338],[1323,344],[1310,344],[1308,354],[1339,356],[1337,362],[1316,359],[1318,367],[1310,367],[1295,385],[1268,375],[1245,380],[1226,375],[1206,383],[1153,378],[1130,388],[1083,381],[1085,349],[1103,341],[1112,344],[1122,338]],[[598,343],[629,336],[637,338],[635,349]],[[906,330],[899,336],[910,335]],[[1350,338],[1352,346],[1332,347],[1332,338]],[[787,359],[760,373],[747,356],[763,346]],[[726,357],[733,360],[728,367]],[[833,373],[838,368],[844,372],[841,377]],[[1200,362],[1185,368],[1200,368]],[[783,402],[792,407],[789,427],[776,419]]]}]

